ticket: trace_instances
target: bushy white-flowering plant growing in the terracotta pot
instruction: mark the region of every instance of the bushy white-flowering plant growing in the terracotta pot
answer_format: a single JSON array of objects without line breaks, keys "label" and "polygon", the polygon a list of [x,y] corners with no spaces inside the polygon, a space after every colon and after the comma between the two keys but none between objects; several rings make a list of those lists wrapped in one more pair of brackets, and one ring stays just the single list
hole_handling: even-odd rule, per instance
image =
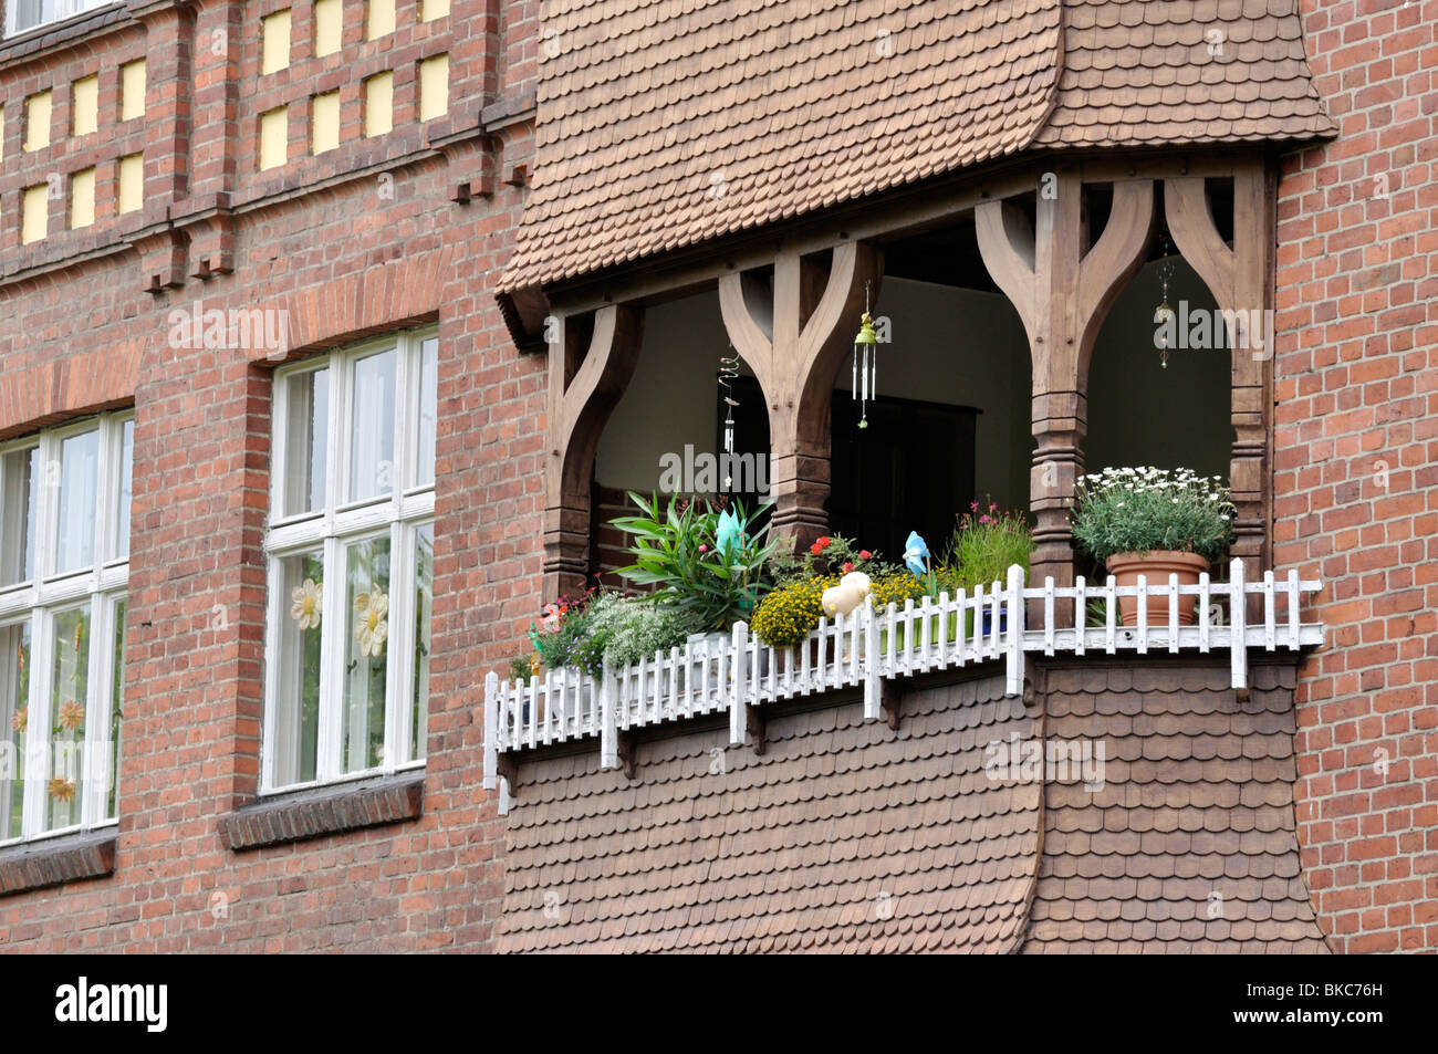
[{"label": "bushy white-flowering plant growing in the terracotta pot", "polygon": [[1219,476],[1189,469],[1104,469],[1080,476],[1074,539],[1100,564],[1120,552],[1194,552],[1209,562],[1234,539],[1234,503]]}]

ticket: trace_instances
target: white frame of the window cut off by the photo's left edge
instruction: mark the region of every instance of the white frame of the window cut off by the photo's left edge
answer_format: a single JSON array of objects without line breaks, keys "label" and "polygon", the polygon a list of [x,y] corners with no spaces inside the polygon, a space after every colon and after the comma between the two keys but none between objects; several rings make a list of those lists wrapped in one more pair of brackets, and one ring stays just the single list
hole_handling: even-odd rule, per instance
[{"label": "white frame of the window cut off by the photo's left edge", "polygon": [[[116,794],[116,815],[106,817],[106,781],[91,778],[99,769],[96,751],[105,748],[106,761],[114,756],[109,742],[111,689],[115,683],[115,615],[119,604],[127,602],[129,590],[129,556],[119,554],[121,528],[115,523],[119,513],[122,487],[121,466],[124,463],[125,424],[134,420],[134,413],[124,411],[89,417],[56,429],[32,433],[24,439],[0,444],[0,456],[14,450],[40,450],[40,477],[32,480],[37,487],[35,552],[32,554],[30,578],[24,582],[0,588],[0,628],[29,621],[30,654],[26,674],[29,676],[29,735],[53,726],[55,700],[50,697],[52,664],[55,660],[55,617],[78,607],[89,605],[91,638],[88,657],[88,686],[85,697],[85,746],[81,755],[82,795],[81,822],[69,827],[45,827],[46,782],[49,781],[49,751],[16,759],[24,765],[24,804],[20,835],[0,841],[0,846],[55,838],[76,831],[109,827],[119,822],[119,795]],[[50,466],[60,464],[62,443],[70,436],[85,431],[99,431],[96,476],[95,476],[95,539],[92,561],[88,567],[68,574],[55,574],[55,555],[59,548],[59,503],[60,479],[52,483]],[[6,544],[0,539],[0,545]],[[46,733],[49,742],[49,733]],[[30,741],[26,748],[30,752]],[[119,774],[112,774],[118,781]]]}]

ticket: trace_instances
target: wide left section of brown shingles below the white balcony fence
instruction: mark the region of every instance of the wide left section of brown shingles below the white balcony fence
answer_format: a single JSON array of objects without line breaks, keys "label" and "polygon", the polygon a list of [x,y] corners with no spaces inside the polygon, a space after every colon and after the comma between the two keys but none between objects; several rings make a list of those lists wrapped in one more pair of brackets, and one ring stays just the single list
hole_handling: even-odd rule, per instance
[{"label": "wide left section of brown shingles below the white balcony fence", "polygon": [[525,764],[499,950],[1011,950],[1038,787],[984,772],[1034,730],[1002,690],[916,696],[897,736],[858,706],[778,716],[762,758],[728,728],[659,739],[634,784],[592,752]]}]

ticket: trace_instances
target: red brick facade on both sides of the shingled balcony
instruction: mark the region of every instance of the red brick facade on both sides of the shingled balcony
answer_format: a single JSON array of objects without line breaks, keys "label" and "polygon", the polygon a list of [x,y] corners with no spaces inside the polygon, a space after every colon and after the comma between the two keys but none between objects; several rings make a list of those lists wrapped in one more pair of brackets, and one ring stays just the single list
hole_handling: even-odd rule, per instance
[{"label": "red brick facade on both sides of the shingled balcony", "polygon": [[[345,0],[341,50],[315,58],[293,0],[290,65],[260,75],[259,19],[285,6],[128,0],[0,42],[0,440],[135,408],[118,846],[75,850],[73,873],[99,877],[0,896],[4,950],[495,946],[505,830],[480,789],[480,690],[541,601],[546,382],[493,292],[532,165],[539,4],[453,0],[420,22],[397,0],[394,36],[365,42]],[[1435,948],[1438,4],[1303,9],[1342,135],[1286,157],[1278,184],[1274,564],[1324,581],[1330,631],[1296,689],[1299,844],[1334,950]],[[449,114],[420,124],[417,63],[446,52]],[[147,114],[119,121],[138,58]],[[361,82],[381,70],[394,131],[364,138]],[[89,75],[99,131],[75,138],[70,85]],[[27,152],[39,91],[52,142]],[[341,144],[312,157],[311,96],[331,91]],[[289,160],[259,171],[278,106]],[[119,214],[119,158],[139,151],[144,206]],[[22,244],[24,190],[92,167],[93,224],[68,230],[60,194]],[[378,825],[311,805],[326,833],[286,840],[242,812],[279,357],[171,348],[168,313],[197,301],[283,309],[286,361],[439,326],[429,762],[423,795],[370,801]]]}]

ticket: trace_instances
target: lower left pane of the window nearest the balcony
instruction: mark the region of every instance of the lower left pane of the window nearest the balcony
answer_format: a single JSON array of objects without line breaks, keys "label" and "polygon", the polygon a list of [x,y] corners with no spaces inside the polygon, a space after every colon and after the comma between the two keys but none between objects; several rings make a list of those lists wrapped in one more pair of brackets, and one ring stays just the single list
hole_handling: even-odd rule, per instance
[{"label": "lower left pane of the window nearest the balcony", "polygon": [[280,561],[279,656],[275,680],[273,785],[315,778],[319,742],[319,623],[325,562],[318,552]]}]

